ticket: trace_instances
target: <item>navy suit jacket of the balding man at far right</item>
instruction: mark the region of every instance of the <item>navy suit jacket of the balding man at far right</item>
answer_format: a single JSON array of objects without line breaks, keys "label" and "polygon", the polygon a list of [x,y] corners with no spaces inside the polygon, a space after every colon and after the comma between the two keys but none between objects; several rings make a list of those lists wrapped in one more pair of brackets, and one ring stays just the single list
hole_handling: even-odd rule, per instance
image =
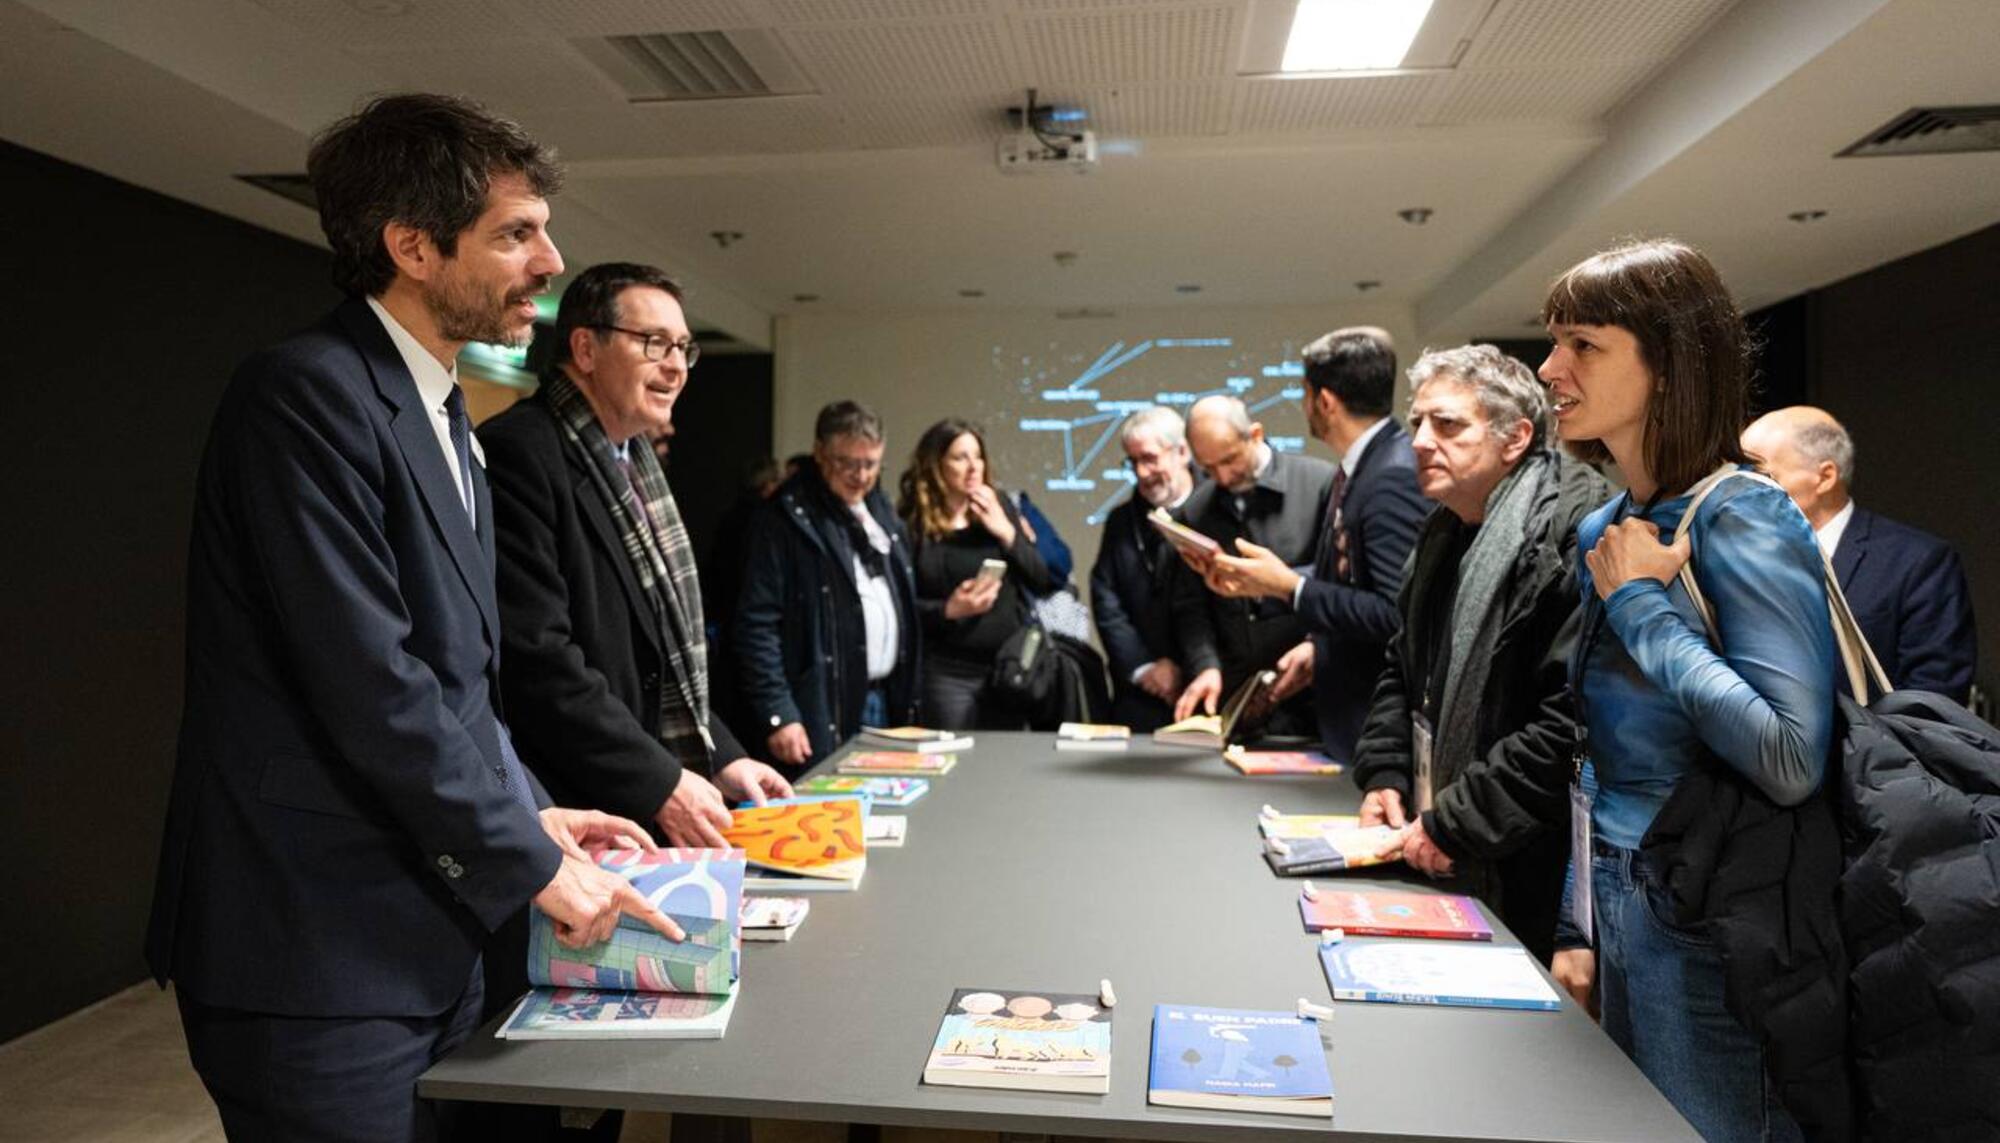
[{"label": "navy suit jacket of the balding man at far right", "polygon": [[1856,508],[1834,548],[1834,572],[1896,687],[1966,701],[1978,633],[1966,570],[1950,544]]}]

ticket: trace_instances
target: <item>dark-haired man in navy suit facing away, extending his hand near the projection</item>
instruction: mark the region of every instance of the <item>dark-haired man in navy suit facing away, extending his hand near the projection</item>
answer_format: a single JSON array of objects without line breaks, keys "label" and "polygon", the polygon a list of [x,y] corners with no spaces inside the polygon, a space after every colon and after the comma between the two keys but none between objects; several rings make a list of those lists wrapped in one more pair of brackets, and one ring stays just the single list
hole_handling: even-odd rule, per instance
[{"label": "dark-haired man in navy suit facing away, extending his hand near the projection", "polygon": [[1310,575],[1238,542],[1218,556],[1212,591],[1290,599],[1310,639],[1278,659],[1280,695],[1312,683],[1320,741],[1354,755],[1384,651],[1402,625],[1396,595],[1416,530],[1432,504],[1416,486],[1410,434],[1390,418],[1396,346],[1374,326],[1334,330],[1306,346],[1306,424],[1340,454]]}]

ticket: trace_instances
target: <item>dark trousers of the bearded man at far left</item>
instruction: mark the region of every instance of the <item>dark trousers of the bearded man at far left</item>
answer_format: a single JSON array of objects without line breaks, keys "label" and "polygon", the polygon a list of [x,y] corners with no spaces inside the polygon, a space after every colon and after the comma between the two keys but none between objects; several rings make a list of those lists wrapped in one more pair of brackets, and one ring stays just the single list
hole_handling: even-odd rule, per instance
[{"label": "dark trousers of the bearded man at far left", "polygon": [[458,1003],[428,1017],[294,1017],[204,1005],[180,993],[188,1057],[222,1129],[242,1143],[434,1143],[452,1109],[416,1077],[478,1027],[472,965]]}]

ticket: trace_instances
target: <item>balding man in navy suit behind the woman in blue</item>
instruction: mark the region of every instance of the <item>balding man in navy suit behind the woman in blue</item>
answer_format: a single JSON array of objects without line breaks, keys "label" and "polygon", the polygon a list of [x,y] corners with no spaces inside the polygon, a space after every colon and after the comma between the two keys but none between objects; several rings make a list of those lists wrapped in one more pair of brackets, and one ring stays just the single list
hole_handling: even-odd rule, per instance
[{"label": "balding man in navy suit behind the woman in blue", "polygon": [[1856,508],[1848,494],[1854,440],[1826,410],[1764,414],[1744,430],[1742,446],[1806,514],[1890,683],[1966,701],[1978,635],[1958,552]]}]

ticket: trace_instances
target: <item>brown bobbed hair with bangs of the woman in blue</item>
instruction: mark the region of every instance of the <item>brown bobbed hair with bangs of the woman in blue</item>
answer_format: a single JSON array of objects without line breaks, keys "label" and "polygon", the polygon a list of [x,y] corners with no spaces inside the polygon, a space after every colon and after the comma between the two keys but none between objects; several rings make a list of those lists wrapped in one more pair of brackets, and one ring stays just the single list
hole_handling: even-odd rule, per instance
[{"label": "brown bobbed hair with bangs of the woman in blue", "polygon": [[[1658,488],[1682,492],[1724,462],[1746,464],[1738,436],[1750,420],[1754,344],[1700,250],[1654,238],[1592,254],[1550,284],[1542,324],[1618,326],[1638,340],[1654,380],[1642,448]],[[1604,442],[1570,442],[1570,452],[1610,460]]]}]

